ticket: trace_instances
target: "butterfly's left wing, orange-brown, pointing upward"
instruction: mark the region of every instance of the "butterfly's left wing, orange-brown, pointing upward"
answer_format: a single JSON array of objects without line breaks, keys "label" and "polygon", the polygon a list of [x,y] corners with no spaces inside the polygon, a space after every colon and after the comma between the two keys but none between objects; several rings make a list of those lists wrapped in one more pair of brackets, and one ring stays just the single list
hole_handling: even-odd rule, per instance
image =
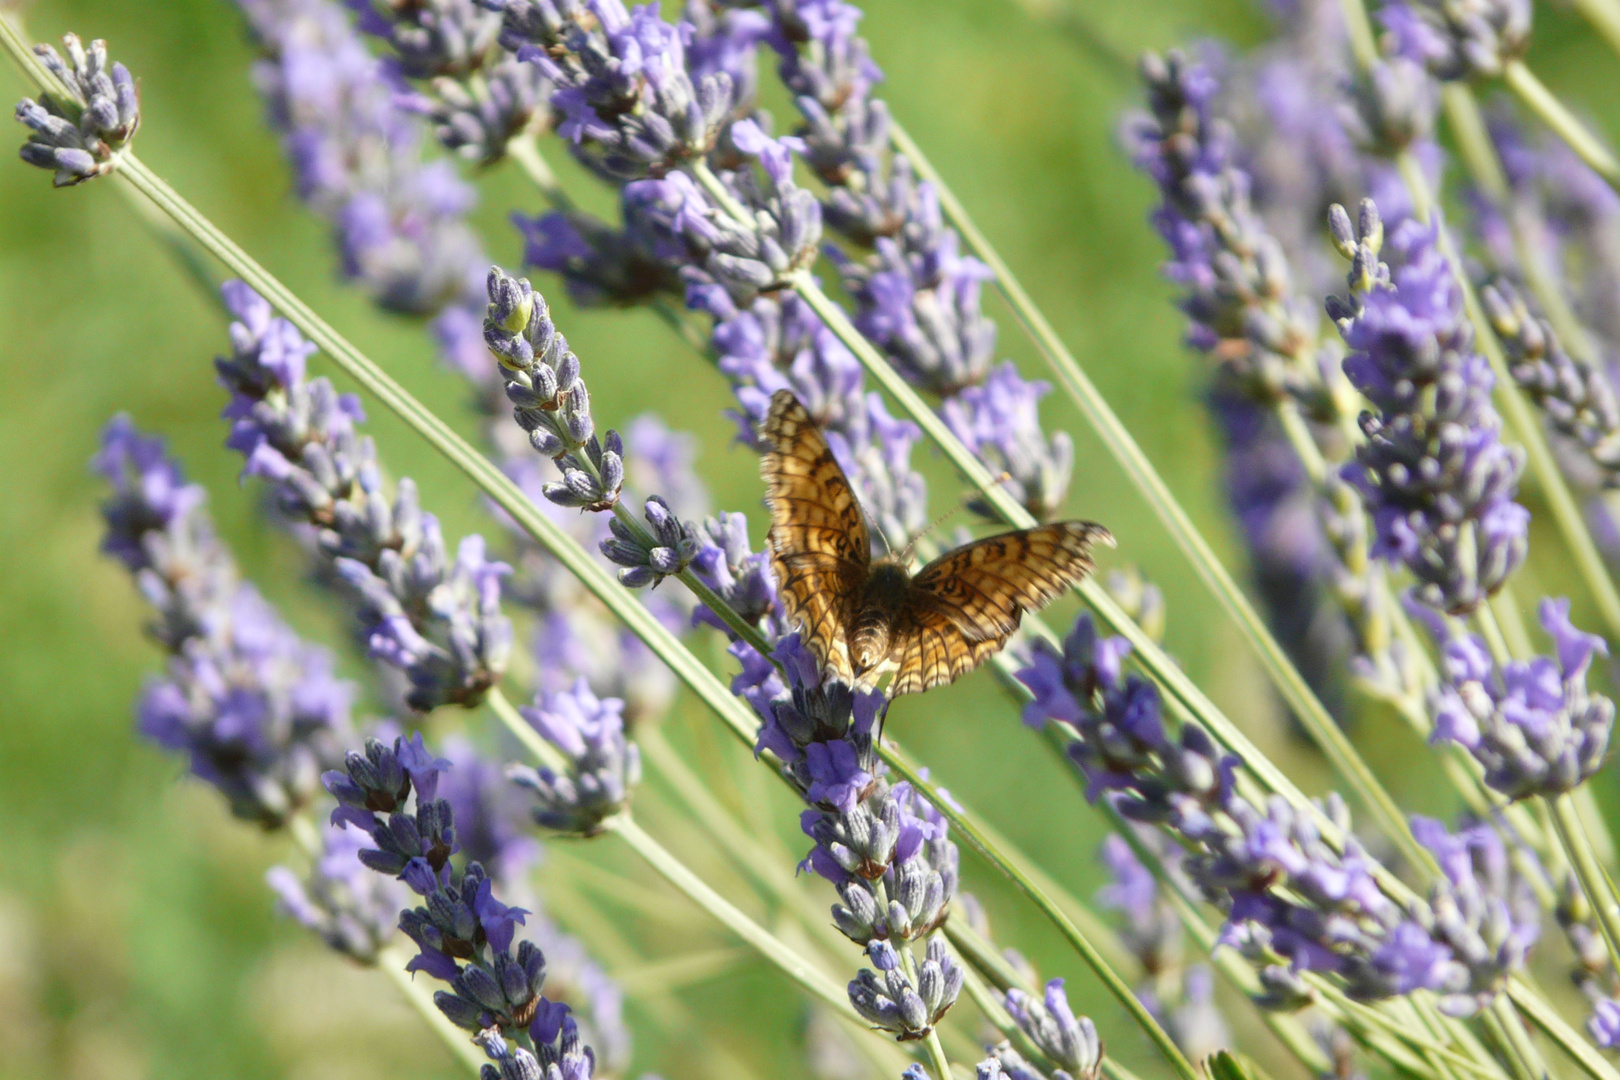
[{"label": "butterfly's left wing, orange-brown, pointing upward", "polygon": [[771,568],[787,619],[821,669],[854,677],[846,646],[852,607],[872,565],[872,538],[849,478],[792,390],[778,390],[760,426],[771,508]]}]

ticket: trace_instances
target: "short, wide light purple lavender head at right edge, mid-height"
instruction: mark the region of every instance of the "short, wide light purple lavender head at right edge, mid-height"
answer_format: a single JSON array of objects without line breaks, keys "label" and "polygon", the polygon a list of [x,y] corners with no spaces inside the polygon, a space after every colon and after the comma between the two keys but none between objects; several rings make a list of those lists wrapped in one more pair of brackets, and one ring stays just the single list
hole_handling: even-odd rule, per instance
[{"label": "short, wide light purple lavender head at right edge, mid-height", "polygon": [[1592,656],[1607,656],[1607,643],[1570,623],[1570,601],[1542,601],[1541,625],[1557,661],[1497,669],[1479,638],[1445,641],[1445,678],[1430,698],[1434,740],[1464,746],[1486,784],[1508,798],[1580,787],[1602,766],[1614,730],[1614,703],[1586,688]]}]

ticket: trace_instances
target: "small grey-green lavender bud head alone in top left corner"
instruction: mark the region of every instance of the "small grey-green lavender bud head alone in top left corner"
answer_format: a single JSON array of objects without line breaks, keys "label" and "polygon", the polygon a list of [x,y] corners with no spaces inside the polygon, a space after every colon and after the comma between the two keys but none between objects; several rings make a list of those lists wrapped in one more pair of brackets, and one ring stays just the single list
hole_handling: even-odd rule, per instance
[{"label": "small grey-green lavender bud head alone in top left corner", "polygon": [[75,34],[63,34],[62,55],[50,45],[34,45],[34,53],[66,87],[68,96],[40,94],[36,102],[18,102],[18,123],[32,134],[21,157],[29,165],[55,172],[58,188],[84,183],[117,165],[134,130],[141,126],[141,102],[134,78],[122,63],[107,63],[107,42],[89,49]]}]

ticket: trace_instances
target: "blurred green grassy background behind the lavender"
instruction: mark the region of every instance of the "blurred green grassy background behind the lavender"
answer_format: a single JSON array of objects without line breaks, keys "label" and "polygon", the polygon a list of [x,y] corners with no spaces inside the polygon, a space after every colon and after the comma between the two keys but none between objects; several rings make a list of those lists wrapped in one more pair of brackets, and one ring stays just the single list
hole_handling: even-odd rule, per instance
[{"label": "blurred green grassy background behind the lavender", "polygon": [[[1045,2],[1050,15],[1064,0]],[[1014,3],[873,0],[867,8],[863,29],[888,73],[881,92],[894,113],[1231,555],[1212,432],[1197,405],[1204,376],[1179,345],[1181,319],[1157,275],[1162,249],[1145,225],[1149,186],[1115,141],[1132,94],[1129,70]],[[423,327],[382,316],[345,288],[326,228],[288,198],[230,3],[39,0],[23,15],[34,39],[68,29],[109,39],[141,79],[143,159],[410,390],[475,434],[463,384],[436,366]],[[1200,36],[1243,44],[1264,34],[1262,15],[1239,0],[1092,0],[1085,18],[1126,55]],[[1612,113],[1615,58],[1568,16],[1539,10],[1537,18],[1533,66],[1584,107]],[[0,92],[16,99],[24,89],[13,70],[0,68]],[[18,142],[19,131],[11,134]],[[608,206],[578,172],[564,175],[588,204]],[[533,212],[538,199],[509,168],[480,183],[488,251],[512,266],[518,244],[505,215]],[[716,505],[752,512],[755,463],[729,442],[723,381],[650,317],[556,306],[586,363],[601,423],[659,410],[676,427],[698,432]],[[1003,325],[1003,353],[1037,371],[1004,308],[990,308]],[[170,437],[211,491],[248,573],[301,628],[342,641],[339,620],[300,576],[298,552],[264,528],[254,492],[235,481],[237,458],[220,449],[222,392],[209,359],[222,343],[219,311],[143,228],[118,185],[52,191],[42,173],[0,154],[0,1077],[465,1075],[389,983],[275,918],[262,873],[285,857],[280,842],[235,823],[209,790],[183,779],[177,761],[131,732],[131,701],[159,656],[139,633],[144,612],[128,580],[97,555],[102,492],[86,460],[113,411],[128,410]],[[1121,541],[1106,562],[1140,565],[1170,597],[1171,649],[1307,790],[1322,790],[1319,763],[1286,733],[1234,635],[1079,416],[1056,397],[1043,416],[1077,444],[1071,510],[1106,521]],[[489,528],[458,474],[387,416],[374,415],[373,429],[392,471],[418,478],[447,531]],[[953,497],[946,473],[936,461],[930,468],[941,481],[936,508],[944,507]],[[364,677],[355,656],[345,665]],[[676,742],[710,746],[705,753],[735,764],[742,779],[734,793],[753,806],[761,829],[779,834],[784,858],[797,858],[804,840],[786,793],[706,724],[687,704],[669,730]],[[1098,884],[1095,816],[1019,729],[988,677],[907,699],[891,724],[936,779],[1090,895]],[[1369,724],[1358,745],[1406,805],[1445,810],[1430,793],[1430,759],[1392,722]],[[731,780],[716,784],[732,792]],[[666,803],[656,785],[638,805],[643,823],[682,845],[679,823],[659,816]],[[714,874],[727,873],[724,853],[695,844],[682,850]],[[619,852],[569,845],[551,863],[559,882],[580,861],[625,866]],[[1072,976],[1077,1006],[1095,1009],[1110,1051],[1150,1067],[1139,1036],[1098,1001],[1043,925],[972,857],[964,857],[964,878],[966,889],[985,897],[998,939],[1035,957],[1043,976]],[[716,1075],[703,1046],[726,1038],[761,1077],[805,1075],[795,994],[773,972],[732,955],[731,942],[698,916],[674,912],[656,925],[573,884],[552,887],[543,878],[543,887],[564,925],[585,934],[603,925],[625,931],[642,959],[609,967],[632,986],[669,980],[672,968],[661,960],[703,949],[718,957],[710,976],[672,991],[695,1027],[632,999],[637,1072]],[[829,900],[825,886],[805,887]],[[854,949],[847,960],[852,973]]]}]

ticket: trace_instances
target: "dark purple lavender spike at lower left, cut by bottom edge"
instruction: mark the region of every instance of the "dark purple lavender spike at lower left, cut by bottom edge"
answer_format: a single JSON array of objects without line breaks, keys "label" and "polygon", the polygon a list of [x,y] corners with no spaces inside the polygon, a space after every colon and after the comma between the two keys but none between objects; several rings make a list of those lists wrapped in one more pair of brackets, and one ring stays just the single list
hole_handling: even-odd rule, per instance
[{"label": "dark purple lavender spike at lower left, cut by bottom edge", "polygon": [[[339,801],[332,824],[366,834],[374,847],[361,848],[360,861],[421,897],[421,905],[400,913],[400,929],[420,949],[407,970],[450,986],[434,993],[434,1004],[457,1027],[480,1033],[499,1065],[496,1075],[512,1061],[538,1070],[528,1075],[556,1065],[585,1080],[595,1072],[595,1054],[580,1046],[572,1010],[539,993],[544,954],[515,939],[528,912],[502,904],[476,860],[460,870],[450,861],[460,852],[455,813],[437,798],[439,774],[449,767],[420,735],[395,738],[392,746],[366,740],[364,753],[350,751],[342,771],[322,777]],[[533,1052],[507,1046],[509,1038]]]}]

